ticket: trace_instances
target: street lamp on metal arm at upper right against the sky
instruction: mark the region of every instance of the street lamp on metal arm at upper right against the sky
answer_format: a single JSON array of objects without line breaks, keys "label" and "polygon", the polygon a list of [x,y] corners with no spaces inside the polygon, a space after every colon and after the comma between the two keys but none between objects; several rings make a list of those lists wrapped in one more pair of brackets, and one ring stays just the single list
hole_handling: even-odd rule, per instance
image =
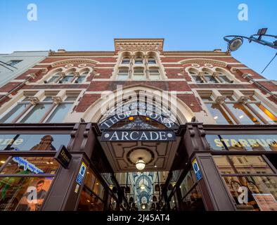
[{"label": "street lamp on metal arm at upper right against the sky", "polygon": [[[243,45],[243,39],[248,39],[249,43],[252,41],[258,44],[263,44],[269,46],[273,49],[277,49],[277,40],[270,42],[265,41],[262,37],[274,37],[277,39],[276,35],[266,34],[267,28],[259,29],[257,34],[252,34],[250,37],[240,36],[240,35],[228,35],[224,37],[224,41],[228,42],[228,51],[236,51]],[[231,39],[230,39],[231,38]]]}]

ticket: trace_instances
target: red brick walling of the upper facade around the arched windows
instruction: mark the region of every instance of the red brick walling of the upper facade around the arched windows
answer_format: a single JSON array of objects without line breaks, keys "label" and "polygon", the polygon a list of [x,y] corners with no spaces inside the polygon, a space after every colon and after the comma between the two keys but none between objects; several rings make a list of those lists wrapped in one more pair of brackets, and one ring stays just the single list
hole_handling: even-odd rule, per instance
[{"label": "red brick walling of the upper facade around the arched windows", "polygon": [[[193,55],[193,53],[191,53]],[[207,58],[208,60],[221,60],[226,63],[238,63],[238,64],[232,64],[228,65],[227,67],[224,67],[226,70],[231,70],[231,68],[244,68],[245,65],[239,64],[240,62],[236,60],[233,57],[224,57],[226,55],[222,53],[210,53],[209,55],[203,54],[203,56],[200,57],[188,57],[188,56],[174,56],[174,57],[167,57],[169,54],[165,52],[165,57],[162,57],[162,63],[164,64],[165,72],[167,74],[167,77],[169,79],[180,79],[180,81],[127,81],[127,82],[120,82],[120,81],[105,81],[100,82],[97,81],[97,79],[109,79],[113,72],[113,66],[115,65],[117,58],[108,56],[108,57],[98,57],[98,56],[70,56],[70,57],[63,57],[60,56],[58,58],[46,58],[45,60],[41,61],[41,63],[49,63],[48,65],[35,65],[33,68],[28,70],[27,72],[22,73],[22,75],[19,75],[17,79],[26,79],[27,75],[30,75],[31,73],[34,73],[37,75],[37,78],[32,80],[32,82],[37,81],[38,79],[41,79],[41,77],[44,76],[44,73],[42,70],[39,70],[38,68],[47,68],[48,70],[52,70],[51,63],[60,61],[60,60],[70,60],[70,59],[76,59],[76,58],[85,58],[85,59],[91,59],[96,60],[101,63],[107,63],[107,64],[89,64],[88,66],[94,67],[94,72],[89,75],[89,77],[86,79],[87,82],[91,82],[90,84],[43,84],[43,85],[30,85],[25,84],[22,86],[21,89],[86,89],[86,91],[114,91],[117,88],[117,85],[122,85],[123,88],[126,88],[128,86],[152,86],[154,89],[161,89],[165,91],[191,91],[191,89],[195,88],[203,88],[203,89],[257,89],[257,86],[254,84],[188,84],[188,82],[191,82],[191,77],[188,75],[187,72],[185,72],[185,68],[187,66],[191,66],[191,63],[188,63],[186,65],[181,64],[174,64],[178,63],[181,60],[186,59],[200,59],[200,58]],[[196,55],[195,55],[196,56]],[[199,56],[199,55],[198,55]],[[219,56],[219,57],[213,57],[213,56]],[[108,63],[114,63],[114,64],[108,64]],[[205,63],[198,63],[200,66],[204,66]],[[79,65],[79,63],[74,63],[75,66]],[[60,66],[60,65],[58,65]],[[221,67],[219,65],[216,65],[217,67]],[[232,74],[239,79],[241,82],[247,82],[247,79],[244,79],[242,75],[244,73],[250,73],[253,75],[252,78],[254,79],[261,79],[264,78],[262,75],[259,75],[257,72],[251,70],[250,68],[246,68],[244,70],[238,69],[236,72],[232,72]],[[99,76],[94,76],[95,74],[100,74]],[[181,74],[178,75],[178,74]],[[184,80],[185,78],[186,80]],[[267,89],[270,91],[277,91],[276,85],[271,82],[260,82],[264,86],[266,86]],[[0,89],[0,92],[8,92],[11,91],[15,86],[17,86],[18,82],[10,82],[3,86]],[[79,104],[77,105],[77,112],[84,112],[89,106],[94,103],[98,98],[100,98],[100,94],[85,94],[82,99],[79,101]],[[193,112],[200,112],[201,105],[197,98],[195,98],[194,95],[191,94],[179,94],[178,97],[188,105],[188,107],[193,110]],[[276,101],[273,98],[269,98],[271,101]],[[8,98],[5,99],[5,101],[8,101]],[[0,105],[3,104],[4,101],[0,102]]]}]

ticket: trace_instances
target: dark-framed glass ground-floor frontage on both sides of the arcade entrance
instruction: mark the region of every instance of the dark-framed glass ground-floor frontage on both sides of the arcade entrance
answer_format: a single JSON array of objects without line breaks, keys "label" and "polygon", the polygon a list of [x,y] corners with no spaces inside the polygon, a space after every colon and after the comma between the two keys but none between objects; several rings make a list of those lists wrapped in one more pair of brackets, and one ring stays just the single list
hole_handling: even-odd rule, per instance
[{"label": "dark-framed glass ground-floor frontage on both sides of the arcade entrance", "polygon": [[[161,124],[151,123],[159,129],[162,127]],[[188,126],[194,126],[196,131],[191,139],[186,136],[190,130]],[[175,131],[181,141],[176,154],[172,156],[174,158],[169,169],[153,164],[152,169],[146,165],[146,169],[142,170],[122,166],[125,168],[122,171],[112,165],[103,146],[121,149],[131,142],[103,142],[103,139],[101,142],[103,134],[96,127],[97,124],[85,123],[67,127],[60,124],[55,129],[51,124],[47,127],[37,124],[35,129],[34,124],[32,127],[25,125],[24,128],[15,126],[16,129],[13,126],[1,126],[0,211],[49,210],[55,201],[59,201],[59,198],[54,197],[55,193],[63,199],[60,200],[63,201],[60,204],[63,207],[59,210],[226,209],[213,205],[213,201],[217,205],[221,201],[222,205],[226,205],[226,202],[223,202],[222,193],[217,196],[217,192],[209,189],[212,185],[220,186],[220,190],[224,191],[229,210],[277,211],[275,125],[271,126],[271,131],[259,127],[245,127],[244,131],[241,126],[240,129],[235,129],[236,126],[209,127],[202,124],[181,126]],[[116,129],[118,127],[120,124],[116,124]],[[205,135],[200,136],[200,129],[205,130]],[[95,136],[94,142],[88,141],[90,136]],[[160,146],[157,150],[162,149],[164,144],[169,148],[167,141],[156,143],[156,146]],[[173,143],[170,142],[171,145]],[[197,150],[190,152],[189,147],[193,149],[191,146],[195,143],[203,145],[198,145]],[[148,146],[150,144],[152,142],[148,142]],[[72,155],[68,168],[56,160],[56,153],[61,146],[65,146]],[[131,159],[131,154],[134,152],[127,158]],[[198,162],[198,171],[195,162]],[[80,179],[82,163],[85,169]],[[209,171],[215,172],[210,176]],[[64,179],[65,176],[68,179]],[[68,190],[64,196],[59,191],[61,186]]]}]

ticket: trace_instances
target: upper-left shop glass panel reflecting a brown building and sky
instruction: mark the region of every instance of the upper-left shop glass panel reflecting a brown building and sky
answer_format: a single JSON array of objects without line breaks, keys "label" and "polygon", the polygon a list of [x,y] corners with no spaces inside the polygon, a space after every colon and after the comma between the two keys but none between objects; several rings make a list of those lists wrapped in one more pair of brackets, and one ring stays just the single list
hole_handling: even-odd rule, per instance
[{"label": "upper-left shop glass panel reflecting a brown building and sky", "polygon": [[69,141],[68,134],[0,134],[0,150],[58,150]]}]

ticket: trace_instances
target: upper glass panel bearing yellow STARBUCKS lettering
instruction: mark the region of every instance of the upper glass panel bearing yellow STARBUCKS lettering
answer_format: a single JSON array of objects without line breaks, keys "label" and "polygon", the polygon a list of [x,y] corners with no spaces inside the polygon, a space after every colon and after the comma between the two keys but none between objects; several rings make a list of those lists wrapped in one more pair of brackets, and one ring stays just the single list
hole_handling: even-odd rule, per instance
[{"label": "upper glass panel bearing yellow STARBUCKS lettering", "polygon": [[259,135],[259,134],[221,134],[205,136],[211,150],[259,150],[276,151],[277,135]]}]

